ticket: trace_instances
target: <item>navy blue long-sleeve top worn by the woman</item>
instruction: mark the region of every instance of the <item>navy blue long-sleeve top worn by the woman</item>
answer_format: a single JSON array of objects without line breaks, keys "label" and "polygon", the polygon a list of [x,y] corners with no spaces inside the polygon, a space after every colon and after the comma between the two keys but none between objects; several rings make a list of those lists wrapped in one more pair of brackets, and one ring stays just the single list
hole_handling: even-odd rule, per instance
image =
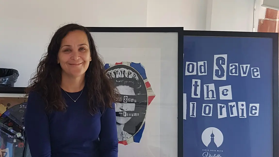
[{"label": "navy blue long-sleeve top worn by the woman", "polygon": [[[74,100],[81,92],[68,93]],[[39,93],[31,92],[25,113],[25,132],[32,157],[117,157],[116,113],[113,108],[91,115],[86,90],[74,102],[64,91],[68,108],[45,111]]]}]

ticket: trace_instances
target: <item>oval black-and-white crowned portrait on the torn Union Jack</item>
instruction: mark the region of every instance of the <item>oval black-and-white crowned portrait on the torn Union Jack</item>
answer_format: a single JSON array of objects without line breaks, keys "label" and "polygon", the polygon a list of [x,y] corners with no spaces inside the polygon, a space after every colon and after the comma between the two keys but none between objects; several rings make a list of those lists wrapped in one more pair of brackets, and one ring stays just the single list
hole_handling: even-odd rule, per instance
[{"label": "oval black-and-white crowned portrait on the torn Union Jack", "polygon": [[140,73],[127,65],[107,69],[120,94],[115,104],[118,141],[125,141],[142,127],[147,109],[147,91]]}]

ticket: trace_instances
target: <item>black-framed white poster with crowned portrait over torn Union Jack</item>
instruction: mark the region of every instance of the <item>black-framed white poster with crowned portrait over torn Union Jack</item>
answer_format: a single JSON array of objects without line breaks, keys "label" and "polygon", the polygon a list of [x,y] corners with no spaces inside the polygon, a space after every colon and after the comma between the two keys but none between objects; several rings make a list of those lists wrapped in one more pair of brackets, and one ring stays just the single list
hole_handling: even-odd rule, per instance
[{"label": "black-framed white poster with crowned portrait over torn Union Jack", "polygon": [[182,155],[183,147],[178,146],[182,88],[177,86],[183,83],[182,77],[178,80],[178,71],[183,70],[178,69],[179,61],[183,63],[183,28],[88,29],[121,94],[116,103],[118,156]]}]

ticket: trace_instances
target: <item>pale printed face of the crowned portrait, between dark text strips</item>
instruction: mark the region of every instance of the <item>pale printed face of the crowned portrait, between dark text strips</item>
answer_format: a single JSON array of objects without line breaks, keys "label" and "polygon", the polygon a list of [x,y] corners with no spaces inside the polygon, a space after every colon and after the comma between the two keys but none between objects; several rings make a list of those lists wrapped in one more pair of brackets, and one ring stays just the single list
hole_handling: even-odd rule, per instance
[{"label": "pale printed face of the crowned portrait, between dark text strips", "polygon": [[[134,89],[127,85],[119,85],[119,86],[117,86],[117,89],[121,95],[124,95],[124,96],[134,96],[135,95]],[[115,111],[116,112],[134,111],[135,106],[136,106],[135,103],[116,103]],[[131,118],[132,117],[116,116],[116,122],[119,124],[125,124]]]}]

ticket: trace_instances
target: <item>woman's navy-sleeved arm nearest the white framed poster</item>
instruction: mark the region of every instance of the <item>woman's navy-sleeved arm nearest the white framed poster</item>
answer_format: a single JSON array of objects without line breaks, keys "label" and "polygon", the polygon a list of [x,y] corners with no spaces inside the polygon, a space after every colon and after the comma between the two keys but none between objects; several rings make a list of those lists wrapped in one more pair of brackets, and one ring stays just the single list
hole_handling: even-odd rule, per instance
[{"label": "woman's navy-sleeved arm nearest the white framed poster", "polygon": [[[118,157],[115,104],[101,116],[100,157]],[[32,156],[33,157],[33,156]]]}]

